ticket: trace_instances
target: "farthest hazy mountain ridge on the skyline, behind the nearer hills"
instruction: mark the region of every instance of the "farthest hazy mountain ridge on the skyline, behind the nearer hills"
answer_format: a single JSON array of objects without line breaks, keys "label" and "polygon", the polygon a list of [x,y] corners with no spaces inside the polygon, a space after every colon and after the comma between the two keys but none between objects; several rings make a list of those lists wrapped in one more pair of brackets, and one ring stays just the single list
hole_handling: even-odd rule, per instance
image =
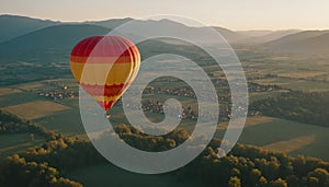
[{"label": "farthest hazy mountain ridge on the skyline, behind the nearer hills", "polygon": [[[105,21],[86,21],[86,22],[72,22],[69,24],[89,24],[89,25],[98,25],[107,27],[110,30],[117,27],[118,25],[122,25],[128,21],[132,21],[134,19],[131,17],[124,17],[124,19],[111,19]],[[145,25],[155,25],[154,27],[164,27],[164,25],[169,25],[179,28],[179,31],[192,31],[192,30],[198,30],[197,27],[191,27],[183,25],[181,23],[170,21],[170,20],[147,20],[147,21],[138,21],[138,24],[145,24]],[[39,19],[32,19],[26,16],[20,16],[20,15],[0,15],[0,26],[2,30],[0,30],[0,43],[10,40],[16,36],[27,34],[33,31],[37,31],[41,28],[44,28],[46,26],[54,26],[54,25],[60,25],[60,24],[68,24],[65,22],[55,22],[49,20],[39,20]],[[167,30],[168,30],[167,28]],[[219,27],[219,26],[213,26],[217,32],[219,32],[229,43],[252,43],[252,44],[259,44],[262,42],[270,42],[273,39],[276,39],[281,36],[284,36],[285,34],[292,34],[293,31],[242,31],[242,32],[235,32],[228,28]],[[297,32],[297,31],[295,31]],[[275,35],[275,36],[274,36]],[[274,37],[273,37],[274,36]],[[268,38],[269,37],[269,38]]]}]

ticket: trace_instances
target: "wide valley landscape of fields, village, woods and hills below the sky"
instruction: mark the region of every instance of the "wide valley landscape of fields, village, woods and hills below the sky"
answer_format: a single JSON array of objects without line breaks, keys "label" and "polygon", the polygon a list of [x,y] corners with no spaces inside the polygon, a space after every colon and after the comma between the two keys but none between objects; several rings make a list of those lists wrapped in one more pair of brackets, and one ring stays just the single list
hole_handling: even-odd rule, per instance
[{"label": "wide valley landscape of fields, village, woods and hills below the sky", "polygon": [[[20,23],[8,24],[7,30],[0,31],[2,168],[19,164],[19,168],[26,171],[30,167],[32,171],[48,170],[56,183],[71,186],[79,186],[79,183],[86,186],[124,186],[136,184],[136,179],[143,186],[148,186],[144,183],[148,180],[159,182],[163,186],[191,187],[205,180],[212,186],[220,170],[232,173],[231,176],[220,174],[224,179],[218,183],[222,185],[227,185],[226,182],[231,177],[240,176],[235,170],[245,172],[247,179],[243,178],[242,183],[248,185],[280,184],[281,178],[288,184],[305,185],[311,183],[309,177],[321,173],[317,168],[328,171],[329,56],[325,51],[329,48],[326,42],[329,38],[328,31],[235,32],[214,27],[235,49],[249,90],[249,112],[243,131],[235,149],[222,159],[217,157],[218,145],[227,129],[231,106],[230,89],[222,68],[207,54],[189,43],[159,38],[137,44],[141,60],[162,52],[174,54],[193,60],[206,72],[215,85],[220,105],[217,130],[202,155],[184,168],[168,174],[143,176],[105,162],[90,143],[81,122],[79,85],[69,69],[69,51],[81,38],[106,34],[129,20],[61,23],[0,15],[0,25]],[[157,30],[177,27],[192,36],[196,36],[201,30],[169,20],[139,22]],[[145,116],[150,121],[159,122],[164,119],[163,103],[169,98],[177,98],[183,107],[182,115],[171,109],[170,115],[181,119],[178,129],[183,129],[174,131],[170,135],[172,137],[147,137],[132,128],[136,124],[127,121],[121,101],[109,110],[110,120],[124,141],[144,142],[136,143],[136,148],[145,147],[148,141],[159,141],[160,150],[172,149],[181,143],[183,135],[193,131],[198,118],[194,91],[183,81],[163,77],[148,84],[143,91],[141,102],[133,98],[128,104],[132,108],[141,105]],[[148,143],[149,147],[143,149],[159,149]],[[73,161],[72,157],[79,159]],[[49,165],[44,165],[44,162]],[[193,172],[194,167],[201,172]],[[249,176],[246,171],[251,170],[253,175]],[[208,176],[202,174],[207,171],[213,173]],[[277,173],[272,175],[269,171]],[[35,175],[38,175],[37,172]],[[253,180],[253,177],[257,179]],[[106,179],[101,182],[100,178]],[[122,183],[124,178],[132,179]],[[48,183],[47,176],[43,183]]]}]

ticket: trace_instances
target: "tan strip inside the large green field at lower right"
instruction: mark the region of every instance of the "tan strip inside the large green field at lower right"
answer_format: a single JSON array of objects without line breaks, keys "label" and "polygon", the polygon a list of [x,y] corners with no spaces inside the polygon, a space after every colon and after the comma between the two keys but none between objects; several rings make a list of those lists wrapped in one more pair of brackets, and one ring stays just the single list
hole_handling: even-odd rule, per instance
[{"label": "tan strip inside the large green field at lower right", "polygon": [[268,149],[268,150],[290,153],[292,151],[295,151],[299,148],[303,148],[307,144],[313,143],[315,138],[316,138],[315,135],[304,136],[304,137],[298,137],[298,138],[287,140],[287,141],[280,141],[280,142],[271,143],[263,148]]}]

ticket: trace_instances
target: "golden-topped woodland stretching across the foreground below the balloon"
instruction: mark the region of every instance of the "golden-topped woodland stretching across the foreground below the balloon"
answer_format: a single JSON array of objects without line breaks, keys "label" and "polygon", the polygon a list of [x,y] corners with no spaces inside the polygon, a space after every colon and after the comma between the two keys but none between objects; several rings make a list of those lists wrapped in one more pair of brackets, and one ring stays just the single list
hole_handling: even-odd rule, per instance
[{"label": "golden-topped woodland stretching across the foreground below the balloon", "polygon": [[[146,136],[127,125],[120,125],[114,129],[124,141],[147,151],[175,148],[189,137],[182,129],[161,137]],[[212,140],[197,159],[172,172],[178,183],[192,179],[209,187],[329,186],[329,164],[319,159],[291,157],[284,153],[243,144],[236,144],[227,156],[219,157],[220,143],[218,139]],[[78,187],[82,184],[67,178],[66,173],[102,163],[107,161],[89,141],[57,138],[1,161],[0,184],[15,187]]]}]

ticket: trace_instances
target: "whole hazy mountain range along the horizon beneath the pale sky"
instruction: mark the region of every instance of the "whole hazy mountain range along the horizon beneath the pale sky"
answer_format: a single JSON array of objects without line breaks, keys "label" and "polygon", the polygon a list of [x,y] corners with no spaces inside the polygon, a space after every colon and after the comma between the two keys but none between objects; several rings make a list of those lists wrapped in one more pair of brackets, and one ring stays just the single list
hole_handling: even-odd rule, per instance
[{"label": "whole hazy mountain range along the horizon beneath the pale sky", "polygon": [[[133,19],[106,21],[58,22],[19,15],[0,15],[0,60],[48,60],[67,57],[80,39],[106,34]],[[159,32],[200,35],[202,27],[192,27],[170,20],[136,20],[137,24]],[[234,46],[257,46],[276,52],[325,52],[329,49],[329,31],[231,31],[213,26]],[[207,38],[205,42],[211,42]]]}]

